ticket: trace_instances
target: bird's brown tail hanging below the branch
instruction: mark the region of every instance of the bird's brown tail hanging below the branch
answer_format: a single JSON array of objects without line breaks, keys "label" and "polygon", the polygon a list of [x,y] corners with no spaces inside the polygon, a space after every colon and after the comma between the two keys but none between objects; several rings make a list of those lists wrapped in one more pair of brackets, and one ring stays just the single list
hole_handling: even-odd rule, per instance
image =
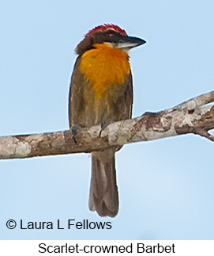
[{"label": "bird's brown tail hanging below the branch", "polygon": [[92,152],[89,208],[99,216],[115,217],[118,213],[115,148]]}]

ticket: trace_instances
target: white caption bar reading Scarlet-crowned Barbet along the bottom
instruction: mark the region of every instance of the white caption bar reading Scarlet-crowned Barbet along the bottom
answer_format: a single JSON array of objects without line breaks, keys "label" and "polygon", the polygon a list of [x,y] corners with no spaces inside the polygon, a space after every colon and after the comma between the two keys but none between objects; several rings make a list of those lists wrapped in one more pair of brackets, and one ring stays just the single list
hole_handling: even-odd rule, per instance
[{"label": "white caption bar reading Scarlet-crowned Barbet along the bottom", "polygon": [[214,255],[214,241],[0,241],[1,255]]}]

